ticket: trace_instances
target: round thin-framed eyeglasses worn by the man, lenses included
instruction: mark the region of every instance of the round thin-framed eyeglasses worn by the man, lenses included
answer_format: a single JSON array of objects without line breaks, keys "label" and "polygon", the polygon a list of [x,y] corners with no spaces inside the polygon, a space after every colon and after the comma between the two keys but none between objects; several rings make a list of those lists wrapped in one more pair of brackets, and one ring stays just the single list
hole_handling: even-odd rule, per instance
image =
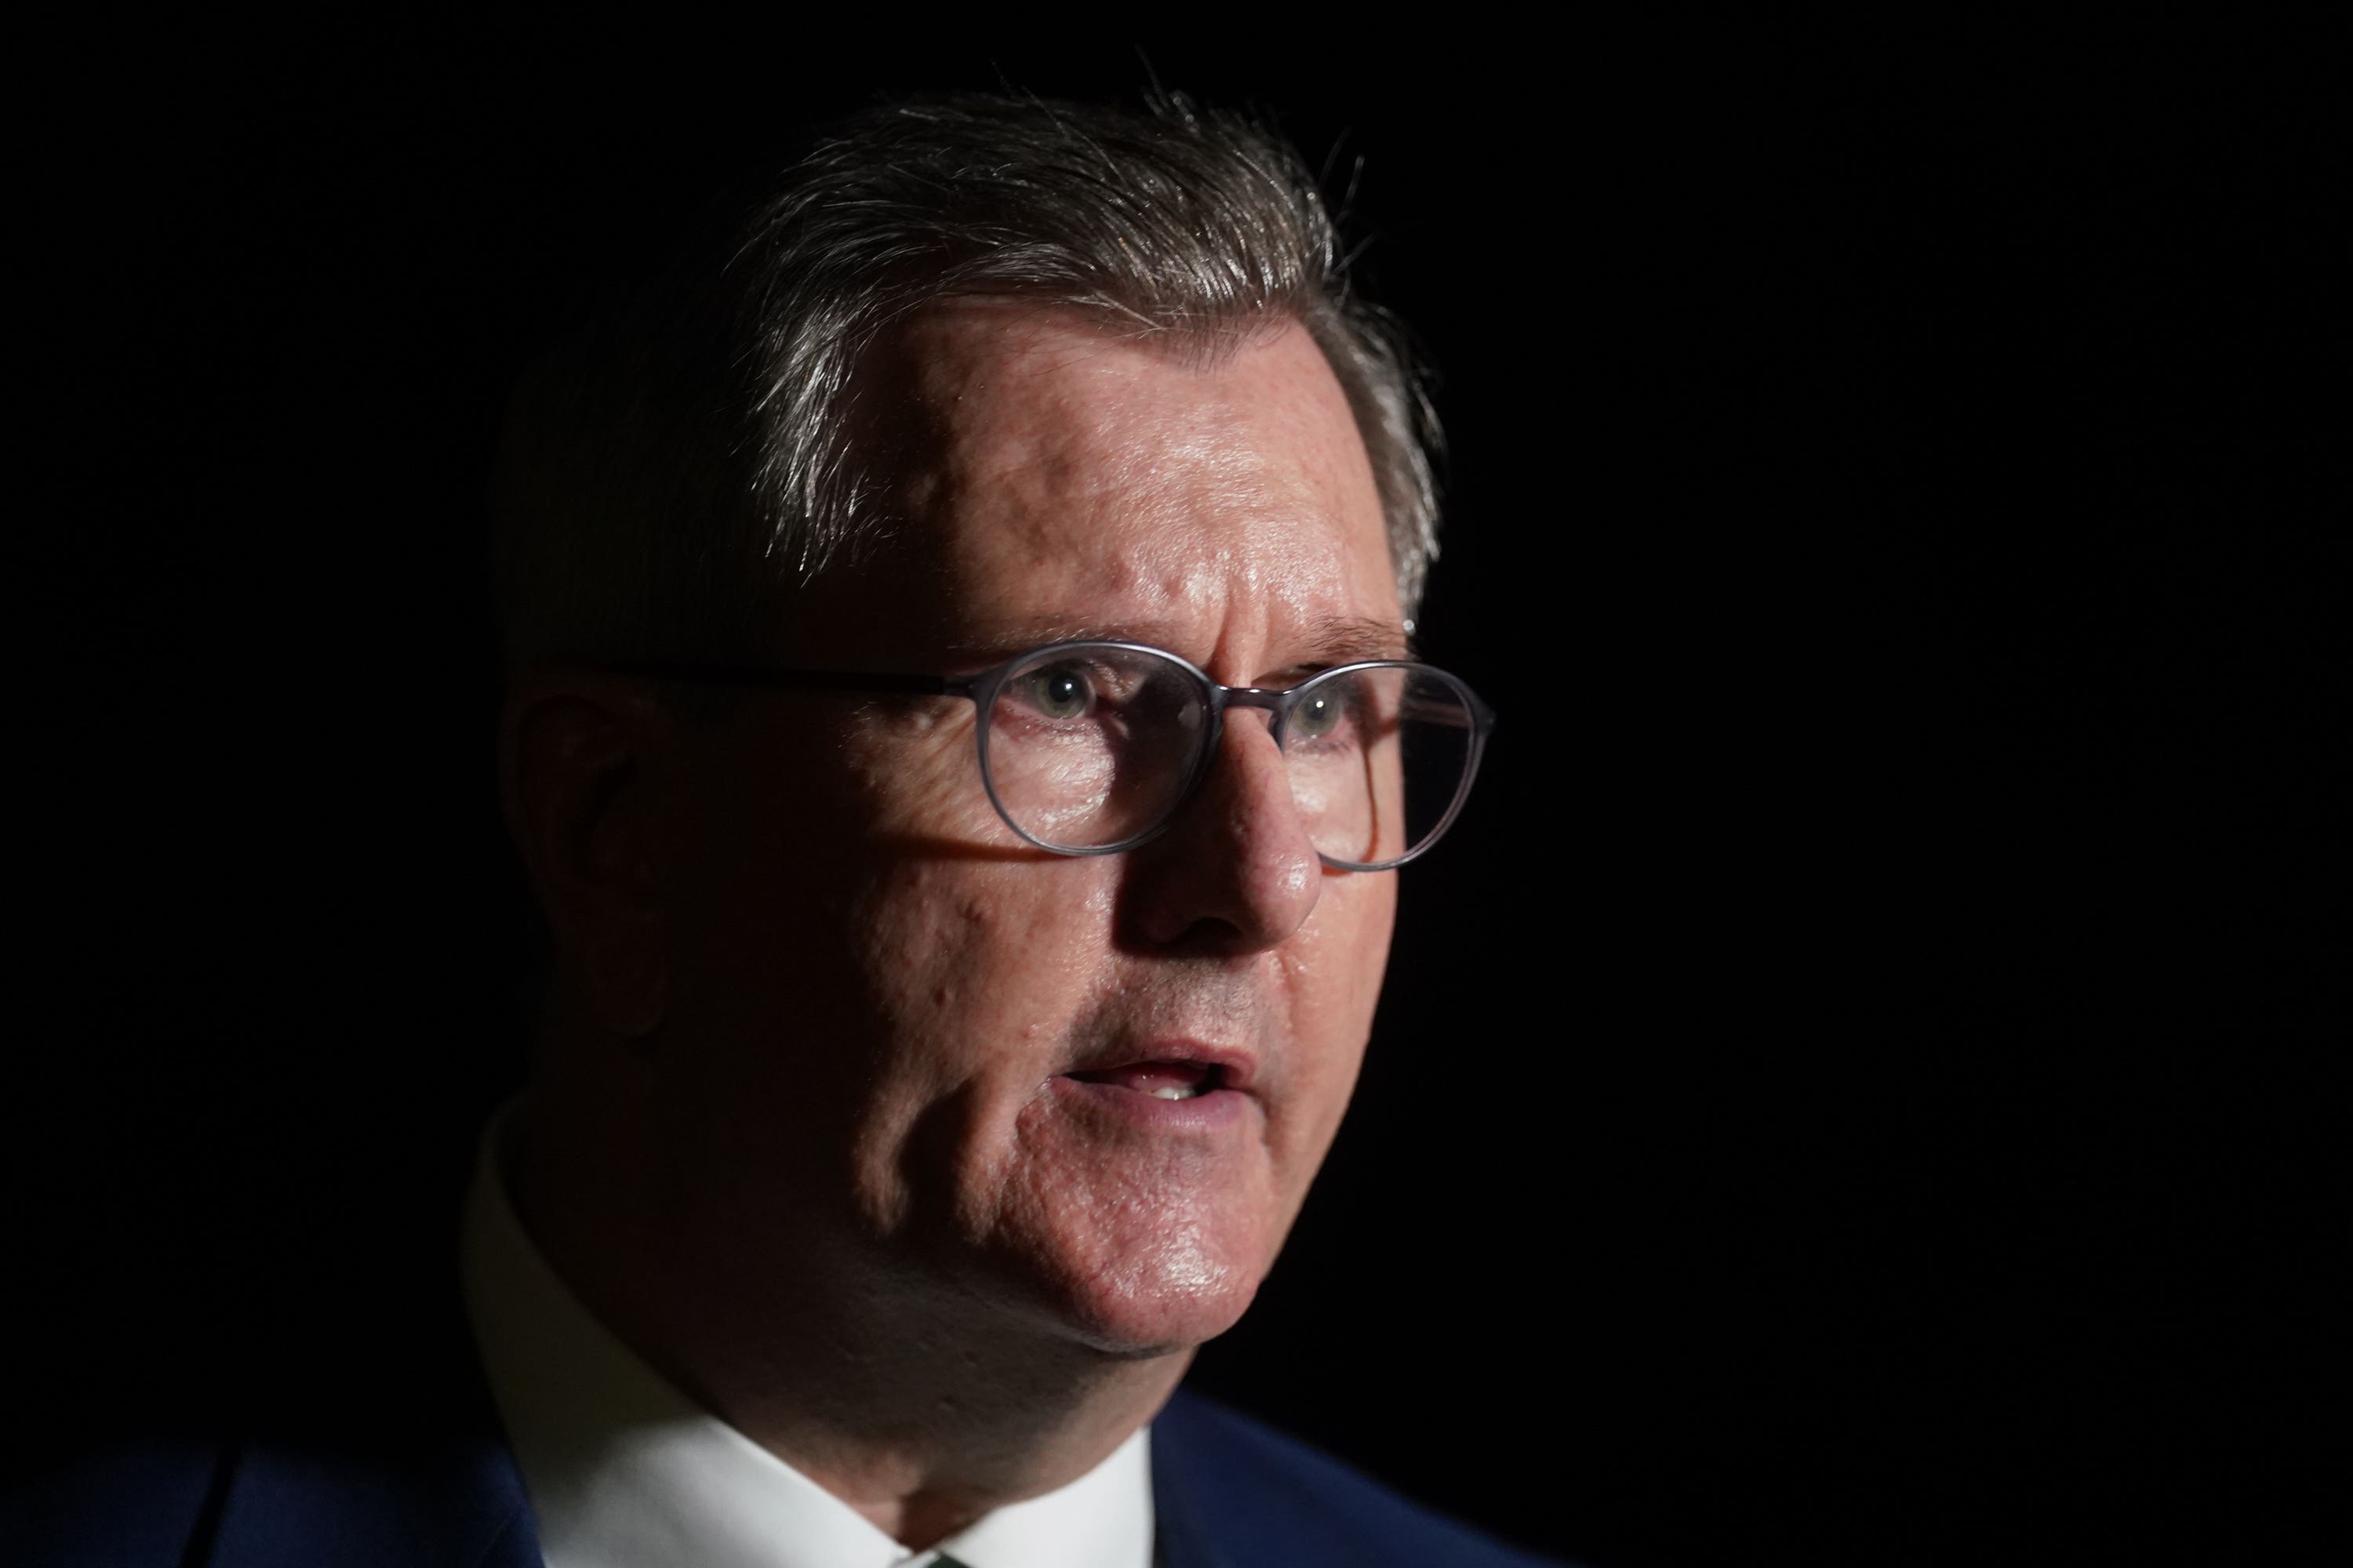
[{"label": "round thin-framed eyeglasses worn by the man, lenses included", "polygon": [[1461,813],[1494,712],[1454,675],[1377,658],[1297,686],[1221,686],[1139,642],[1054,642],[979,675],[640,665],[635,675],[786,691],[972,698],[981,788],[1059,856],[1115,856],[1176,818],[1217,764],[1228,708],[1259,708],[1325,865],[1386,872]]}]

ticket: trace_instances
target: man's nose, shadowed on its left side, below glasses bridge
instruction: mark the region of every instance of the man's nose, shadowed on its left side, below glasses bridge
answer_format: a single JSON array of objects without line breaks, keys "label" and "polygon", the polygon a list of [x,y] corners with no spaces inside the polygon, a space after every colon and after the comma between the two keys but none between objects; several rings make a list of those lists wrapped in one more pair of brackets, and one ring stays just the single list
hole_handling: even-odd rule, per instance
[{"label": "man's nose, shadowed on its left side, below glasses bridge", "polygon": [[1127,924],[1155,950],[1264,952],[1306,922],[1322,860],[1264,712],[1226,712],[1200,790],[1167,832],[1125,858]]}]

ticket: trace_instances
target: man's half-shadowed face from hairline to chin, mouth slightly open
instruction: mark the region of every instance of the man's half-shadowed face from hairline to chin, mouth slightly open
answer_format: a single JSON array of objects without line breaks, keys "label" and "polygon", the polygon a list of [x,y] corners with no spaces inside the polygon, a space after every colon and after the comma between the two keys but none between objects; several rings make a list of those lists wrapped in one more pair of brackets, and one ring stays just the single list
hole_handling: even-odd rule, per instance
[{"label": "man's half-shadowed face from hairline to chin, mouth slightly open", "polygon": [[[972,672],[1101,635],[1287,686],[1402,654],[1365,447],[1299,327],[1202,362],[974,301],[861,390],[906,524],[795,604],[781,661]],[[1167,835],[1087,858],[995,816],[965,698],[758,696],[696,733],[661,1046],[692,1204],[1106,1349],[1228,1328],[1348,1103],[1395,907],[1318,863],[1266,717],[1228,717]]]}]

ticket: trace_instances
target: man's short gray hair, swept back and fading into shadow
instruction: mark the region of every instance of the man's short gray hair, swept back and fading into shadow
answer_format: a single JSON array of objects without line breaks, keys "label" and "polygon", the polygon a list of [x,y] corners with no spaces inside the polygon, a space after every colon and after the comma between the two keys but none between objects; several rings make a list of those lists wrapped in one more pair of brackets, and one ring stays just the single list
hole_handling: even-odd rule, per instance
[{"label": "man's short gray hair, swept back and fading into shadow", "polygon": [[960,94],[840,122],[748,223],[586,313],[525,376],[496,498],[508,658],[758,656],[779,590],[887,527],[847,435],[861,355],[969,294],[1212,348],[1306,327],[1414,611],[1438,421],[1400,322],[1351,292],[1299,155],[1176,94],[1144,113]]}]

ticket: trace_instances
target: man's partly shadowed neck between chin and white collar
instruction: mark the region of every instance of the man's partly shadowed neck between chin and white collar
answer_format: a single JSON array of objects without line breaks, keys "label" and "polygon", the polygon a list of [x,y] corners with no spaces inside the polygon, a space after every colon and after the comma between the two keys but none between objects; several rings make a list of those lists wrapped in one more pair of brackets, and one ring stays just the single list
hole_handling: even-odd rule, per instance
[{"label": "man's partly shadowed neck between chin and white collar", "polygon": [[911,1549],[1056,1490],[1158,1413],[1191,1352],[1118,1354],[805,1211],[664,1201],[624,1128],[525,1107],[513,1197],[555,1274],[713,1415]]}]

